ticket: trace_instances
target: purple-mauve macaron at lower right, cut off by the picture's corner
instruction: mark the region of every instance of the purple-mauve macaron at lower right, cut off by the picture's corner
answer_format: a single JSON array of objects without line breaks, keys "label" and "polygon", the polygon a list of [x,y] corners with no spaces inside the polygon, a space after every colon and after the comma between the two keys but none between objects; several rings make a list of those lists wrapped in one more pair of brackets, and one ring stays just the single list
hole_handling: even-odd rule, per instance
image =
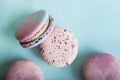
[{"label": "purple-mauve macaron at lower right, cut off by the picture's corner", "polygon": [[83,80],[120,80],[120,62],[111,54],[95,54],[83,65]]}]

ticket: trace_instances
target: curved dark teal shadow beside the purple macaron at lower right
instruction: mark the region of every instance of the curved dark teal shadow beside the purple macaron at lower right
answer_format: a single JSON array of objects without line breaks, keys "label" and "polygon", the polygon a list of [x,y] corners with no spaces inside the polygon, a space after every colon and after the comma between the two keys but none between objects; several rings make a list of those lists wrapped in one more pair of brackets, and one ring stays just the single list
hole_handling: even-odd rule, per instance
[{"label": "curved dark teal shadow beside the purple macaron at lower right", "polygon": [[84,62],[91,55],[98,54],[98,53],[101,53],[101,52],[97,49],[93,49],[90,47],[86,47],[81,51],[79,50],[75,61],[70,65],[72,68],[72,73],[75,77],[75,80],[83,80],[82,79],[82,68],[83,68]]}]

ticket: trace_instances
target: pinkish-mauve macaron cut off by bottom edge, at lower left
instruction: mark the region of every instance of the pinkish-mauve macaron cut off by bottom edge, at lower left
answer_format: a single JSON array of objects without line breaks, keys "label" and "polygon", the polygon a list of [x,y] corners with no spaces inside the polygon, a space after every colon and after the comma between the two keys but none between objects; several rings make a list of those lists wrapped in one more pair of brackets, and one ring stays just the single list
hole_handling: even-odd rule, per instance
[{"label": "pinkish-mauve macaron cut off by bottom edge, at lower left", "polygon": [[44,75],[34,62],[21,60],[11,65],[6,80],[44,80]]}]

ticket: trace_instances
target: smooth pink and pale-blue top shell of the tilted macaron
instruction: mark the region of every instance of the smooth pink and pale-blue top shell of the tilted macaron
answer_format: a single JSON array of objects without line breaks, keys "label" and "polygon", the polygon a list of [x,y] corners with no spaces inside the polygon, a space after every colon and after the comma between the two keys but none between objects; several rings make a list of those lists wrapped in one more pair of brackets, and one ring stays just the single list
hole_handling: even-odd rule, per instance
[{"label": "smooth pink and pale-blue top shell of the tilted macaron", "polygon": [[29,15],[23,22],[22,27],[16,33],[16,38],[20,42],[32,38],[36,33],[38,33],[44,24],[49,19],[49,15],[46,11],[40,10]]}]

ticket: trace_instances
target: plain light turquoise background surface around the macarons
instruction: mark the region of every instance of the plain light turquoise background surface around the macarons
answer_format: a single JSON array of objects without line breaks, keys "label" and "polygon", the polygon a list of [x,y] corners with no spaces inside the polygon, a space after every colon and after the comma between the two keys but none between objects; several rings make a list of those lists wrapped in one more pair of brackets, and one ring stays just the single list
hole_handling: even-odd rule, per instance
[{"label": "plain light turquoise background surface around the macarons", "polygon": [[[16,40],[15,32],[25,17],[41,9],[77,37],[79,52],[72,65],[50,66],[41,58],[39,47],[24,49]],[[37,63],[45,80],[82,80],[84,60],[100,52],[120,59],[120,0],[0,0],[0,80],[21,59]]]}]

